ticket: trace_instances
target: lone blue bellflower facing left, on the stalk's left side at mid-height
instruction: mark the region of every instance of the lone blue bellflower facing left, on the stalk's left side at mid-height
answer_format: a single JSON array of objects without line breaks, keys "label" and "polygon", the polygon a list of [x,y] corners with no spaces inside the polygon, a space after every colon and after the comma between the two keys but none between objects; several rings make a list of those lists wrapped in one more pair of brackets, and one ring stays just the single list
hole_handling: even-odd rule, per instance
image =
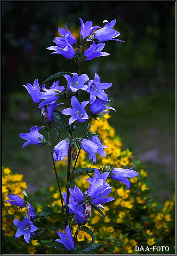
[{"label": "lone blue bellflower facing left, on the stalk's left side at mid-height", "polygon": [[35,127],[37,127],[37,125],[33,126],[30,128],[30,133],[24,132],[21,133],[19,136],[20,138],[27,140],[22,148],[24,148],[25,146],[27,146],[28,144],[35,144],[35,145],[41,145],[41,141],[38,137],[40,137],[43,140],[43,135],[39,133],[39,130],[41,129],[41,127],[37,127],[35,130]]}]

